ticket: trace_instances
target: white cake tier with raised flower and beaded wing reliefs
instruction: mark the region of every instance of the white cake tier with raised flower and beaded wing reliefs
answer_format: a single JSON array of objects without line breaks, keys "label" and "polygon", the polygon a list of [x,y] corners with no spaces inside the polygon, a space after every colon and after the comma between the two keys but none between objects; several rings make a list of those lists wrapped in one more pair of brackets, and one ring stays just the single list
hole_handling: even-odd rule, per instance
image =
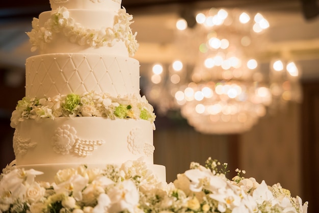
[{"label": "white cake tier with raised flower and beaded wing reliefs", "polygon": [[122,164],[140,157],[153,164],[153,128],[135,119],[26,119],[16,126],[13,147],[17,166]]}]

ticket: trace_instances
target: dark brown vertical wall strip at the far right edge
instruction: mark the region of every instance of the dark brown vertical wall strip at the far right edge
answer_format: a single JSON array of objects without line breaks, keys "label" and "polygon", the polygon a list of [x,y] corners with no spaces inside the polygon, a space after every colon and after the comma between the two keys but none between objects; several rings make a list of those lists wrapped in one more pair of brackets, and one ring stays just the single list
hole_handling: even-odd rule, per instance
[{"label": "dark brown vertical wall strip at the far right edge", "polygon": [[319,81],[303,83],[302,122],[302,199],[309,201],[308,213],[319,209]]}]

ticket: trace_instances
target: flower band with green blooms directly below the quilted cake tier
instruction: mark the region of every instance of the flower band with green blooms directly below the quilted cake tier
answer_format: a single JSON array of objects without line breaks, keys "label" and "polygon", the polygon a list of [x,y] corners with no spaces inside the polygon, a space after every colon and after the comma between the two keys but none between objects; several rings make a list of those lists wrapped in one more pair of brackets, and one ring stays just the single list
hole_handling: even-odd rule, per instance
[{"label": "flower band with green blooms directly below the quilted cake tier", "polygon": [[52,98],[23,97],[12,113],[11,126],[15,128],[24,119],[94,116],[143,119],[150,121],[155,129],[156,116],[153,110],[146,97],[140,94],[112,97],[107,93],[87,92],[83,95],[56,95]]}]

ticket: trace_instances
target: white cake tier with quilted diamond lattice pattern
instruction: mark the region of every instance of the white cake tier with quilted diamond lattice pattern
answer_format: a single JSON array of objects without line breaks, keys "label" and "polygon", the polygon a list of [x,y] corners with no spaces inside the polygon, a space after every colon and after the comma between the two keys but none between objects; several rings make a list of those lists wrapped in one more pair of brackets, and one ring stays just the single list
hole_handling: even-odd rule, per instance
[{"label": "white cake tier with quilted diamond lattice pattern", "polygon": [[99,54],[46,54],[26,59],[25,96],[54,97],[95,91],[140,93],[139,61]]}]

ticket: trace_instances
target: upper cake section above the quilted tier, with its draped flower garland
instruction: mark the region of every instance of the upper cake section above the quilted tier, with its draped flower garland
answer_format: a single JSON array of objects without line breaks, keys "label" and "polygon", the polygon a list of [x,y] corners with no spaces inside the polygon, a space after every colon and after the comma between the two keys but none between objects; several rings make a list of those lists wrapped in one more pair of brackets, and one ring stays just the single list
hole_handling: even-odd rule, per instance
[{"label": "upper cake section above the quilted tier, with its draped flower garland", "polygon": [[132,16],[120,0],[50,0],[52,11],[34,18],[27,33],[39,54],[85,53],[134,56]]}]

